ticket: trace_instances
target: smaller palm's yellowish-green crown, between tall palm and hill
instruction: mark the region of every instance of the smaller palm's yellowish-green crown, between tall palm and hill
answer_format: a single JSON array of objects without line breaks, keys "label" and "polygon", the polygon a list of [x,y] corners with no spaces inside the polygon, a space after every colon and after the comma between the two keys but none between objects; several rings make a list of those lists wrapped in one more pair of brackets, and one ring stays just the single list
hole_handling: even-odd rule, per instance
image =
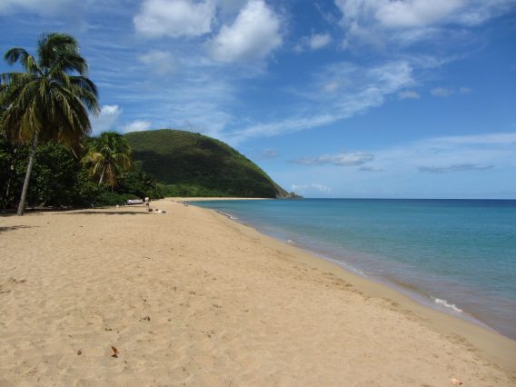
[{"label": "smaller palm's yellowish-green crown, between tall palm and hill", "polygon": [[117,177],[131,167],[131,148],[121,134],[104,132],[94,138],[83,164],[90,167],[90,174],[100,176],[98,184],[105,178],[113,190]]}]

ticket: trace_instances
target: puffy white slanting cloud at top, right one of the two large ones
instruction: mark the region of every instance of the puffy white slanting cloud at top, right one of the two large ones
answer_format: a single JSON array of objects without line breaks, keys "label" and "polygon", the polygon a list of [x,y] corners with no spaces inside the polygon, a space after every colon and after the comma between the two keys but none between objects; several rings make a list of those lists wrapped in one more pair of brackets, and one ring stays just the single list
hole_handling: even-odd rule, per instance
[{"label": "puffy white slanting cloud at top, right one of the two large ones", "polygon": [[250,0],[233,25],[223,25],[209,42],[218,62],[262,60],[282,45],[280,18],[263,0]]}]

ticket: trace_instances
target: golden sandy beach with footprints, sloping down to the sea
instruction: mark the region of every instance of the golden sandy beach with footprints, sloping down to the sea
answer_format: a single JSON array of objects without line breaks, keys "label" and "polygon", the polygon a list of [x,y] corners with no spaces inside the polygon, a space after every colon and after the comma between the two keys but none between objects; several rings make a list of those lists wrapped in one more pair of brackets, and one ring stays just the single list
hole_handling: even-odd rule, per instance
[{"label": "golden sandy beach with footprints, sloping down to the sea", "polygon": [[153,204],[0,217],[0,385],[516,384],[497,333]]}]

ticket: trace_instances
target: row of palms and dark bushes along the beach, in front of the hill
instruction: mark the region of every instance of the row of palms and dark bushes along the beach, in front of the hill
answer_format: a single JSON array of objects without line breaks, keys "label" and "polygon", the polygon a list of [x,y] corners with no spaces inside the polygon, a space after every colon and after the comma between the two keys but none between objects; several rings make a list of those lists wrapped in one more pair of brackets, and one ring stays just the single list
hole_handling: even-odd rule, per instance
[{"label": "row of palms and dark bushes along the beach, in front of the hill", "polygon": [[15,47],[0,74],[0,207],[85,206],[161,197],[160,186],[131,161],[124,137],[90,138],[97,88],[74,37],[45,34],[36,55]]}]

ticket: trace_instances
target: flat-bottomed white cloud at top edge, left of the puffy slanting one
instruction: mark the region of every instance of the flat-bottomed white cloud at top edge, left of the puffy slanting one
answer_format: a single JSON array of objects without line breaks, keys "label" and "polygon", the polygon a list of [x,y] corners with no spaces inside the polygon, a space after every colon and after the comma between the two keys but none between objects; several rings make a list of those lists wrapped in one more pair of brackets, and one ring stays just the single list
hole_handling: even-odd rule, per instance
[{"label": "flat-bottomed white cloud at top edge, left of the puffy slanting one", "polygon": [[208,34],[212,31],[214,19],[212,0],[144,0],[133,21],[139,34],[157,38]]}]

